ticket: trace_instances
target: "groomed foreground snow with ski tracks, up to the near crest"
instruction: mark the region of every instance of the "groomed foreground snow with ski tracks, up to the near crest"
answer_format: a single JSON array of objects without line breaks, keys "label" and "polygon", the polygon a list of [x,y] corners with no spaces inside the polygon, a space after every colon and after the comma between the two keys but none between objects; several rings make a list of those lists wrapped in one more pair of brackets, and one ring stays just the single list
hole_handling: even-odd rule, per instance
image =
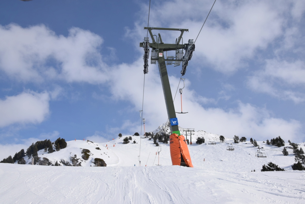
[{"label": "groomed foreground snow with ski tracks, up to the near crest", "polygon": [[0,164],[0,203],[305,203],[304,172],[19,166]]}]

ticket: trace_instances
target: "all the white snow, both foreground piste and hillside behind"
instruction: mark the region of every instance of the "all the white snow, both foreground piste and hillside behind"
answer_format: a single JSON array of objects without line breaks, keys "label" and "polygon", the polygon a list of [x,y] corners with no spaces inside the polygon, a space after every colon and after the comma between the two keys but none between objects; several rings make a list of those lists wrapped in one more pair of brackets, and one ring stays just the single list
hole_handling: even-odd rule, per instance
[{"label": "all the white snow, both foreground piste and hillside behind", "polygon": [[[171,165],[169,144],[156,147],[132,135],[123,144],[125,137],[106,143],[67,141],[58,152],[39,152],[54,164],[74,155],[81,159],[82,149],[89,149],[89,159],[80,160],[79,167],[0,163],[0,203],[305,203],[305,171],[291,169],[291,149],[283,156],[282,147],[258,141],[267,156],[258,158],[249,138],[234,144],[231,138],[221,142],[219,135],[197,131],[188,145],[194,168],[188,168]],[[197,137],[206,142],[197,145]],[[226,150],[228,143],[234,151]],[[94,167],[94,158],[107,167]],[[287,171],[260,172],[269,162]]]}]

